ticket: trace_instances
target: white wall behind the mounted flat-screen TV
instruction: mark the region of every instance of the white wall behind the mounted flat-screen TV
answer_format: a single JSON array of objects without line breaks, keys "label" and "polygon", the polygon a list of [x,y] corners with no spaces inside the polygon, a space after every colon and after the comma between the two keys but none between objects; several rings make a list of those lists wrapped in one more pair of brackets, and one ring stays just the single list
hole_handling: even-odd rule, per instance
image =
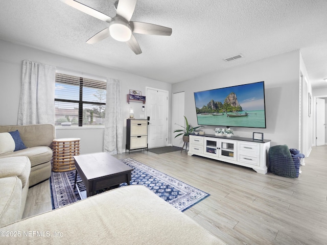
[{"label": "white wall behind the mounted flat-screen TV", "polygon": [[[277,55],[247,65],[230,68],[200,78],[173,84],[172,92],[185,91],[185,116],[197,125],[194,92],[265,81],[266,129],[234,127],[235,136],[252,138],[263,132],[271,145],[299,146],[299,51]],[[232,62],[232,61],[231,61]],[[214,134],[205,126],[206,134]]]}]

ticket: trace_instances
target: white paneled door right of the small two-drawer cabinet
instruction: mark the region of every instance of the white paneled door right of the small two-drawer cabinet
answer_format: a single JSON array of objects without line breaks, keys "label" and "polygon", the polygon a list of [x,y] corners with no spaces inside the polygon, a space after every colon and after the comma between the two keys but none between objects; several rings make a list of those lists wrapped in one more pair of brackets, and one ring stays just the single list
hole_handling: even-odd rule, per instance
[{"label": "white paneled door right of the small two-drawer cabinet", "polygon": [[168,143],[168,94],[166,90],[147,88],[148,147],[166,146]]}]

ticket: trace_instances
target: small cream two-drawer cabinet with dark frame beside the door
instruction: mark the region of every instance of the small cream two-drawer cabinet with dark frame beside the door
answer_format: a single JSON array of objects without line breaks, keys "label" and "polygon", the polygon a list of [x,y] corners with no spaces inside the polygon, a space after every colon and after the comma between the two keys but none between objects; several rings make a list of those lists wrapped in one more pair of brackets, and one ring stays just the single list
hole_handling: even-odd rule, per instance
[{"label": "small cream two-drawer cabinet with dark frame beside the door", "polygon": [[127,119],[126,150],[148,148],[148,120]]}]

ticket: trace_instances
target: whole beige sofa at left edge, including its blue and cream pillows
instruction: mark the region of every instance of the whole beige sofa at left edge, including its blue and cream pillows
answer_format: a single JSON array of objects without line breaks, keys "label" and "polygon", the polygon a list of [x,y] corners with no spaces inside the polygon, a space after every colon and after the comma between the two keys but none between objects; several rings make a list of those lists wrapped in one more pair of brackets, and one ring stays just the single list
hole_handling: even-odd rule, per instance
[{"label": "whole beige sofa at left edge, including its blue and cream pillows", "polygon": [[50,178],[55,136],[51,124],[0,126],[0,226],[21,219],[29,187]]}]

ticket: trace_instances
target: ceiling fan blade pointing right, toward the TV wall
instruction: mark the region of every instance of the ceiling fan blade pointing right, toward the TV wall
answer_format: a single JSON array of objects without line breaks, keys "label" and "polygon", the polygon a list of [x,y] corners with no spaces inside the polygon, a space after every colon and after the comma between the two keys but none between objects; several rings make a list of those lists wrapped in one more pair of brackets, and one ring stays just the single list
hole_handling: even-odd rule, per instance
[{"label": "ceiling fan blade pointing right, toward the TV wall", "polygon": [[130,26],[134,33],[149,34],[149,35],[172,35],[172,29],[169,27],[158,26],[157,24],[150,24],[144,22],[131,21]]}]

